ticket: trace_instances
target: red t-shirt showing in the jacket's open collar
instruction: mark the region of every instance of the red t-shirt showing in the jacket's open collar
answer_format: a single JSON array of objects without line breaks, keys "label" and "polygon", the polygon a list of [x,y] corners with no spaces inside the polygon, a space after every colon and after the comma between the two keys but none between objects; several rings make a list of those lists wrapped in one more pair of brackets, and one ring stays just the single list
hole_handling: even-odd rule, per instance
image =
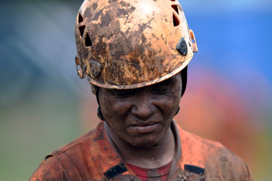
[{"label": "red t-shirt showing in the jacket's open collar", "polygon": [[150,180],[161,180],[161,181],[167,181],[169,170],[171,163],[168,163],[162,167],[158,168],[141,168],[137,167],[135,165],[128,164],[127,165],[133,170],[133,172],[142,179],[143,181],[150,181]]}]

